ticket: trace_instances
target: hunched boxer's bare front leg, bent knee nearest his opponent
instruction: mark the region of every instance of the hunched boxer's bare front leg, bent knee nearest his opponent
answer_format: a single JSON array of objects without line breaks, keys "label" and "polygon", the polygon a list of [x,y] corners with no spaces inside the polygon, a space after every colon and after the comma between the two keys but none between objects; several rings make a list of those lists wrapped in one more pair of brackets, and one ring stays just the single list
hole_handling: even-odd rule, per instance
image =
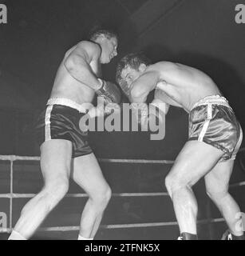
[{"label": "hunched boxer's bare front leg, bent knee nearest his opponent", "polygon": [[222,155],[223,151],[204,142],[189,141],[176,158],[165,182],[180,233],[196,234],[197,203],[192,186],[215,166]]}]

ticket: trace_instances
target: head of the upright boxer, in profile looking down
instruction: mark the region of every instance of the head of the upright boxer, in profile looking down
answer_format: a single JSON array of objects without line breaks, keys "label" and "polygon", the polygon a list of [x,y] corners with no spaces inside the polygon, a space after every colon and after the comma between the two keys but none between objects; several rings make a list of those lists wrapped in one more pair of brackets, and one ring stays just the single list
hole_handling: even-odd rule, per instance
[{"label": "head of the upright boxer, in profile looking down", "polygon": [[90,36],[90,40],[101,46],[101,63],[109,63],[117,56],[117,34],[110,30],[97,30]]}]

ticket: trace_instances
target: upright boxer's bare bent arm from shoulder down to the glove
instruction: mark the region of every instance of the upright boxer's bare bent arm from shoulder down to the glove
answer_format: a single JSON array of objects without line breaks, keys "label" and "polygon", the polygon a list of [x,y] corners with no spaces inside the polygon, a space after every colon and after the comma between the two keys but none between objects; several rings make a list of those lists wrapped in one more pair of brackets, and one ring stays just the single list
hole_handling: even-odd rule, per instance
[{"label": "upright boxer's bare bent arm from shoulder down to the glove", "polygon": [[[79,42],[77,47],[65,59],[64,65],[69,74],[77,81],[89,86],[93,90],[101,88],[95,72],[90,63],[98,62],[101,49],[93,42]],[[98,65],[98,64],[96,64]]]}]

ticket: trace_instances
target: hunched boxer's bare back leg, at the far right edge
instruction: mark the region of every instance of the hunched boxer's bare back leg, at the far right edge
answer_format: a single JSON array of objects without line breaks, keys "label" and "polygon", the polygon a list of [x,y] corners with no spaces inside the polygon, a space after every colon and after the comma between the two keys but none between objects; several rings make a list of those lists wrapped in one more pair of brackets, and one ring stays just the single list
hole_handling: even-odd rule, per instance
[{"label": "hunched boxer's bare back leg, at the far right edge", "polygon": [[240,209],[228,192],[233,165],[234,161],[217,163],[205,176],[205,184],[208,196],[219,208],[231,233],[240,236],[243,235],[243,230],[239,228],[242,222],[238,218]]}]

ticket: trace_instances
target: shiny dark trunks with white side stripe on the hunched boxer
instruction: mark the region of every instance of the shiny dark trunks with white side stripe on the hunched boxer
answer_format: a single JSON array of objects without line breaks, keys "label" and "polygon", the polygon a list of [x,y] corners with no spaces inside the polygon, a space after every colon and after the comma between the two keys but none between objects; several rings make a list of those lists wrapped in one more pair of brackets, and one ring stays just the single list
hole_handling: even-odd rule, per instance
[{"label": "shiny dark trunks with white side stripe on the hunched boxer", "polygon": [[206,142],[223,151],[220,161],[234,160],[243,140],[243,131],[226,98],[207,96],[189,114],[189,138]]}]

